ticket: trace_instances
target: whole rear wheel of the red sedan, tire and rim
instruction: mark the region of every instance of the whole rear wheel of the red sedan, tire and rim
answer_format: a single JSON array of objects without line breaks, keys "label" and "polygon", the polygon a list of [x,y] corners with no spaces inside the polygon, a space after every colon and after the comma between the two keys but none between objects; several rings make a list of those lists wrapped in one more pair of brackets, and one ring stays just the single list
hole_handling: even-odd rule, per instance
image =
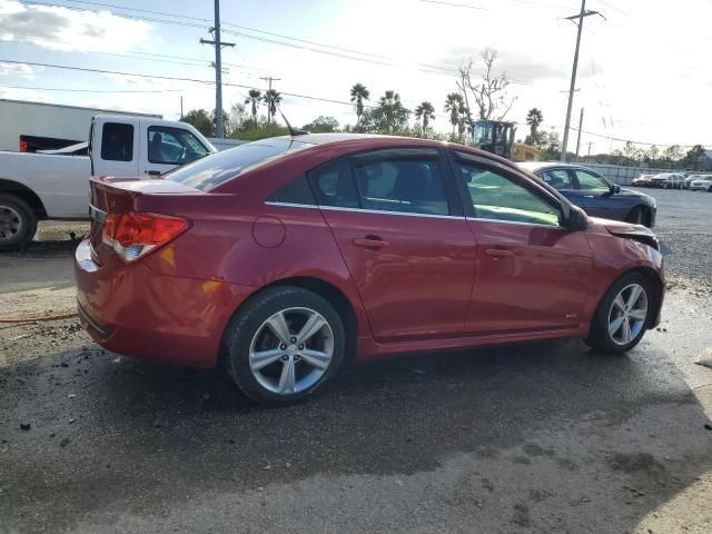
[{"label": "whole rear wheel of the red sedan, tire and rim", "polygon": [[298,287],[259,294],[229,328],[228,372],[258,403],[287,405],[308,397],[334,377],[344,359],[338,313]]}]

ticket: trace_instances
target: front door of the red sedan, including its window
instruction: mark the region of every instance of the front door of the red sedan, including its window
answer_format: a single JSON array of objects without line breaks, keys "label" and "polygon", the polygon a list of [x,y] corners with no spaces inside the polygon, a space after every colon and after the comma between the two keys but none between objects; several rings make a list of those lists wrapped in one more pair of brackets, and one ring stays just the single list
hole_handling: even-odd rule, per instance
[{"label": "front door of the red sedan, including its window", "polygon": [[522,175],[463,154],[454,167],[477,241],[468,332],[578,326],[593,268],[584,233],[563,228],[560,201]]}]

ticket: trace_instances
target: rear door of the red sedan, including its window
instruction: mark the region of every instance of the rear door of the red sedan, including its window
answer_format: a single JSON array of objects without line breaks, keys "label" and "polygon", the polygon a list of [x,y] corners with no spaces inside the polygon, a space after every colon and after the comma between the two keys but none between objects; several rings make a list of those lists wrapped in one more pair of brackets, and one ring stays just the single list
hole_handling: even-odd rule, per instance
[{"label": "rear door of the red sedan, including its window", "polygon": [[376,340],[464,332],[475,240],[437,150],[363,154],[309,180]]}]

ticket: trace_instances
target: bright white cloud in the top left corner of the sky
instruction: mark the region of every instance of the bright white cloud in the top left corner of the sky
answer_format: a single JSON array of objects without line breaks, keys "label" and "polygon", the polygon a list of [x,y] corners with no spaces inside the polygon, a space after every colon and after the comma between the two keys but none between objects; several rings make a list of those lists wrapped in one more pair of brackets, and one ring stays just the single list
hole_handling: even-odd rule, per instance
[{"label": "bright white cloud in the top left corner of the sky", "polygon": [[31,41],[62,51],[134,50],[149,41],[151,26],[108,11],[26,6],[0,0],[0,40]]}]

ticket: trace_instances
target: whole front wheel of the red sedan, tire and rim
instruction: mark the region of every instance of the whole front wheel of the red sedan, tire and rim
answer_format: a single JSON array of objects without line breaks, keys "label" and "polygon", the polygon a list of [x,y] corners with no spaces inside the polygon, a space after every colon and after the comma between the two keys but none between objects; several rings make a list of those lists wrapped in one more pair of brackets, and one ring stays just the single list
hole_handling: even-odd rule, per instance
[{"label": "whole front wheel of the red sedan, tire and rim", "polygon": [[586,343],[603,353],[622,354],[640,343],[652,309],[652,288],[642,275],[616,281],[599,305]]}]

